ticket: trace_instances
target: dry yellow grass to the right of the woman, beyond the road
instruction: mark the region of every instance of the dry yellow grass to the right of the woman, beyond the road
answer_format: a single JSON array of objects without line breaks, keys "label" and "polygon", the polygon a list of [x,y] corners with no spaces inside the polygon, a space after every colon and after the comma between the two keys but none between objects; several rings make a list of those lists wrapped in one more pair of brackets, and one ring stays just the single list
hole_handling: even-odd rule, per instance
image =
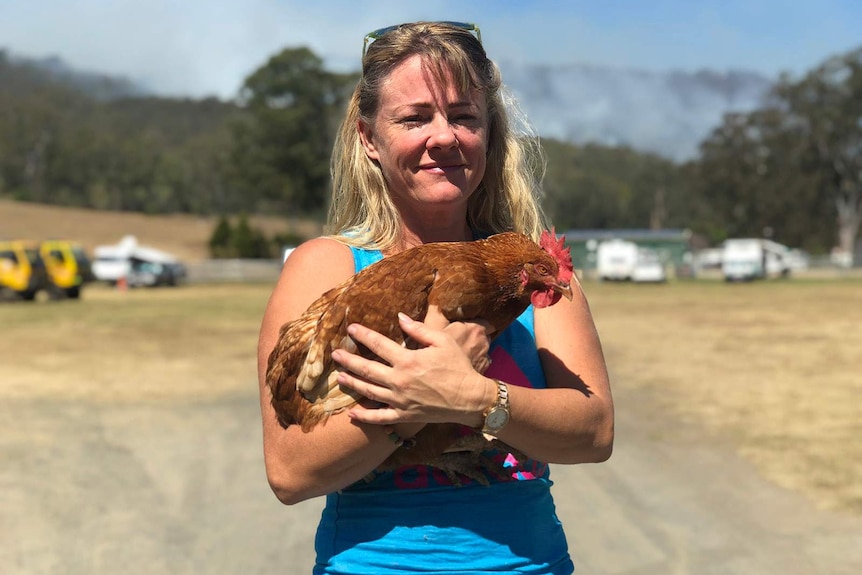
[{"label": "dry yellow grass to the right of the woman, beyond the road", "polygon": [[654,391],[769,480],[862,513],[862,282],[587,290],[614,385]]}]

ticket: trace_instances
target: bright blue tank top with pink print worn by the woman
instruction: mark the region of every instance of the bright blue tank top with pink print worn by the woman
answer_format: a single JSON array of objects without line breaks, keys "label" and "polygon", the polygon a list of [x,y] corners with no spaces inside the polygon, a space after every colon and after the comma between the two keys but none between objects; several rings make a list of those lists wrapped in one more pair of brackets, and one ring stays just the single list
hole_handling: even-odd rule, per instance
[{"label": "bright blue tank top with pink print worn by the woman", "polygon": [[[351,248],[356,271],[382,259]],[[533,308],[491,344],[488,377],[546,387]],[[505,477],[490,486],[407,466],[326,496],[315,539],[314,575],[564,575],[574,570],[551,496],[547,464],[490,452]]]}]

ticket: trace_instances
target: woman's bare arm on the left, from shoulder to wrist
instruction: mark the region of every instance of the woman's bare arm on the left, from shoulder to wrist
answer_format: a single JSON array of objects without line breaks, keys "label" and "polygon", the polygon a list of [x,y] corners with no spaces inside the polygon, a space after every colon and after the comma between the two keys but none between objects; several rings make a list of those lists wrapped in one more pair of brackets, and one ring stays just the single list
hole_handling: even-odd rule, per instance
[{"label": "woman's bare arm on the left, from shoulder to wrist", "polygon": [[[258,343],[258,381],[263,419],[263,448],[269,484],[283,503],[341,489],[365,477],[395,449],[379,426],[352,422],[336,414],[309,433],[299,426],[284,429],[270,403],[266,367],[279,328],[299,317],[324,292],[354,274],[350,249],[334,240],[318,238],[291,253],[267,304]],[[403,437],[422,424],[399,426]]]}]

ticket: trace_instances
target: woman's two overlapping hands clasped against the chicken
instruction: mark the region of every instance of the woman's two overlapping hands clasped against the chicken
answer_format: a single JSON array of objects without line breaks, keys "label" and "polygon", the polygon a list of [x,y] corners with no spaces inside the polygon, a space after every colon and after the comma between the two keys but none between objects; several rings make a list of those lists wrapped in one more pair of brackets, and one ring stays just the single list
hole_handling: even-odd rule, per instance
[{"label": "woman's two overlapping hands clasped against the chicken", "polygon": [[[429,322],[441,325],[439,318]],[[357,406],[349,415],[363,423],[402,422],[481,424],[481,413],[491,403],[493,390],[478,368],[488,364],[489,341],[482,323],[453,323],[434,329],[399,314],[404,334],[420,349],[406,349],[385,336],[353,324],[348,333],[383,362],[368,360],[343,349],[332,358],[347,371],[338,383],[385,407]]]}]

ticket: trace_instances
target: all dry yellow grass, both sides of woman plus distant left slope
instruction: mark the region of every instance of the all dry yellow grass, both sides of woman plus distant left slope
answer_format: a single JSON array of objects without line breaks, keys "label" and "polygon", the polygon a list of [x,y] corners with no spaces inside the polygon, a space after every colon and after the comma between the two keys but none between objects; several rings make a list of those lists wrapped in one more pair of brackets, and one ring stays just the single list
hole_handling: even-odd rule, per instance
[{"label": "all dry yellow grass, both sides of woman plus distant left slope", "polygon": [[[76,217],[88,223],[64,230],[66,209],[0,201],[0,236],[21,235],[10,228],[10,206],[17,218],[31,218],[21,228],[29,237],[41,229],[38,220],[85,245],[137,233],[175,252],[187,243],[193,254],[203,253],[209,234],[203,225],[205,233],[192,234],[198,227],[177,226],[176,218],[83,210]],[[111,237],[97,237],[106,230]],[[0,401],[176,402],[247,391],[255,386],[269,289],[91,286],[79,302],[0,305]],[[648,391],[661,406],[655,417],[696,422],[770,481],[822,507],[862,514],[862,281],[589,282],[585,289],[616,388]]]}]

